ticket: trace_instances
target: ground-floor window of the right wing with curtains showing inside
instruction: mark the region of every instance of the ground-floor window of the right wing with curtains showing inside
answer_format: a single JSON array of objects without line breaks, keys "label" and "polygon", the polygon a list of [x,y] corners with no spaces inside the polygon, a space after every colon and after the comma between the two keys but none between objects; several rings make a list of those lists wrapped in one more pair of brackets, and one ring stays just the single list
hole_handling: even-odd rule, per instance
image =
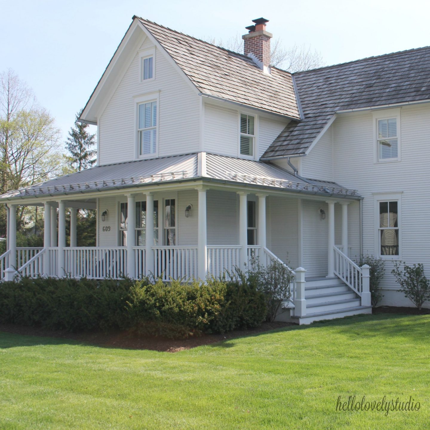
[{"label": "ground-floor window of the right wing with curtains showing inside", "polygon": [[379,248],[382,255],[399,256],[398,201],[379,202]]}]

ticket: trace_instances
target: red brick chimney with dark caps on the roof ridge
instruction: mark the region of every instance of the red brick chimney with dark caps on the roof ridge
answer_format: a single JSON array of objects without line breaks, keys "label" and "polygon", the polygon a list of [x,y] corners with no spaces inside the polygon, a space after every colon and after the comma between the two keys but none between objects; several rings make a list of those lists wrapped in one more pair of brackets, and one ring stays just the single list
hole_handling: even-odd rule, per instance
[{"label": "red brick chimney with dark caps on the roof ridge", "polygon": [[266,31],[268,19],[253,19],[255,25],[245,27],[248,34],[242,36],[244,53],[251,57],[261,70],[270,73],[270,39],[272,34]]}]

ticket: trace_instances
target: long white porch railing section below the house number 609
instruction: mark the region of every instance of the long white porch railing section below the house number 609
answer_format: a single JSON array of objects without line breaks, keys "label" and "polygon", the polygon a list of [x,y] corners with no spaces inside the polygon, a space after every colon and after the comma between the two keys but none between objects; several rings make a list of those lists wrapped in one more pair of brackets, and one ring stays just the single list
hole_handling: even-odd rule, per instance
[{"label": "long white porch railing section below the house number 609", "polygon": [[64,248],[64,270],[72,277],[118,279],[127,273],[125,246]]}]

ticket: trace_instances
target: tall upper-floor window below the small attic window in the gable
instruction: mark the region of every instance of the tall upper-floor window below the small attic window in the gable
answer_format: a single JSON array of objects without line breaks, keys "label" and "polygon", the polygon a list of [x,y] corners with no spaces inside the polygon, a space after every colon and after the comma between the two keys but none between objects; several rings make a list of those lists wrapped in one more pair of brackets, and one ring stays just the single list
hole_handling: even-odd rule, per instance
[{"label": "tall upper-floor window below the small attic window in the gable", "polygon": [[139,155],[157,153],[157,101],[138,104]]}]

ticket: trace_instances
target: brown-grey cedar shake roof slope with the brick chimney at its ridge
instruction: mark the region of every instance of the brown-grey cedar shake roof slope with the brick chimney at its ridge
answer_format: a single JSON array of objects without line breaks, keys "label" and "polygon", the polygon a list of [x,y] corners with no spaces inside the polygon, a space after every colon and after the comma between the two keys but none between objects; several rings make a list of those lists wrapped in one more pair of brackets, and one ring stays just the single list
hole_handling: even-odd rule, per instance
[{"label": "brown-grey cedar shake roof slope with the brick chimney at its ridge", "polygon": [[273,114],[300,118],[289,72],[272,67],[271,74],[264,73],[246,55],[135,18],[157,39],[201,93]]}]

